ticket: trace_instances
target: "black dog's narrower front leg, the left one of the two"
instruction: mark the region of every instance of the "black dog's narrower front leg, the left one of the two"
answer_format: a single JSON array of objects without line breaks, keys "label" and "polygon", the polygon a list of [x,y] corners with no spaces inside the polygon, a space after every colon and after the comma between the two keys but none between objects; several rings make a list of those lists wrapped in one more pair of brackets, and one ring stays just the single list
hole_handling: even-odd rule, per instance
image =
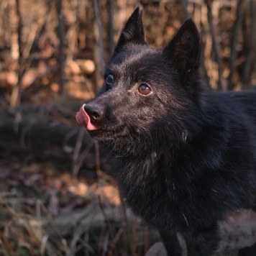
[{"label": "black dog's narrower front leg, the left one of the two", "polygon": [[178,242],[177,234],[170,234],[162,231],[159,232],[163,240],[163,244],[165,244],[168,256],[180,256],[182,250],[180,248],[180,242]]}]

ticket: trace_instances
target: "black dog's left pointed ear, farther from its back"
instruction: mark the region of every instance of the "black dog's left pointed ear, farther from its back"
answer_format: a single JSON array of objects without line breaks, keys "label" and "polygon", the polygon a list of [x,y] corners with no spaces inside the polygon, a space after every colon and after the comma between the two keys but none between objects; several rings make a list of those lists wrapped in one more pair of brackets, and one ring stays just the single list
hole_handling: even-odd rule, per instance
[{"label": "black dog's left pointed ear, farther from its back", "polygon": [[138,6],[133,12],[131,17],[129,17],[127,23],[122,30],[122,33],[117,42],[115,52],[119,52],[122,47],[133,43],[137,45],[145,45],[145,34],[142,25],[142,6]]}]

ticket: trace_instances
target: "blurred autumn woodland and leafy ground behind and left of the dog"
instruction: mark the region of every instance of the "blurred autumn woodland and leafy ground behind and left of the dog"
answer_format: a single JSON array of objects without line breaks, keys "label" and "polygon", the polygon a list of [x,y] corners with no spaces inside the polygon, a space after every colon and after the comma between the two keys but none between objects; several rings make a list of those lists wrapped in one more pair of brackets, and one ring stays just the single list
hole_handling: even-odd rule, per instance
[{"label": "blurred autumn woodland and leafy ground behind and left of the dog", "polygon": [[[163,47],[192,17],[206,83],[255,88],[254,0],[140,3],[150,45]],[[144,255],[159,239],[125,209],[111,157],[75,121],[138,4],[0,0],[1,255]]]}]

